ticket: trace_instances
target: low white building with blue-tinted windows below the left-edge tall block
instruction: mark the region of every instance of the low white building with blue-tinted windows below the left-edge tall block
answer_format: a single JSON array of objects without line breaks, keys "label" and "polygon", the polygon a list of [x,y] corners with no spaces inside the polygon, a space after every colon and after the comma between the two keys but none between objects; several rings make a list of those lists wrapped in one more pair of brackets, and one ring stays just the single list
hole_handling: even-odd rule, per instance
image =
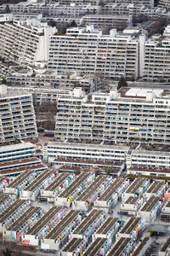
[{"label": "low white building with blue-tinted windows below the left-edge tall block", "polygon": [[35,156],[35,146],[32,143],[17,143],[0,147],[0,163],[9,160],[21,160]]}]

